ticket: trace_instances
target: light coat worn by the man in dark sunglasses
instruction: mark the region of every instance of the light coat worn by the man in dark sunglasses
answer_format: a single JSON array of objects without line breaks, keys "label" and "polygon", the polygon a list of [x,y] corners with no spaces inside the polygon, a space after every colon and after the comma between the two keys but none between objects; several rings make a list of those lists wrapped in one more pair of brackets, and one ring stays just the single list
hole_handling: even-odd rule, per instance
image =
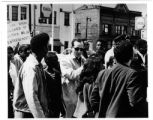
[{"label": "light coat worn by the man in dark sunglasses", "polygon": [[81,65],[77,62],[73,54],[65,55],[60,59],[62,72],[63,98],[66,104],[67,115],[72,117],[77,104],[76,84],[83,69],[85,58],[81,57]]}]

